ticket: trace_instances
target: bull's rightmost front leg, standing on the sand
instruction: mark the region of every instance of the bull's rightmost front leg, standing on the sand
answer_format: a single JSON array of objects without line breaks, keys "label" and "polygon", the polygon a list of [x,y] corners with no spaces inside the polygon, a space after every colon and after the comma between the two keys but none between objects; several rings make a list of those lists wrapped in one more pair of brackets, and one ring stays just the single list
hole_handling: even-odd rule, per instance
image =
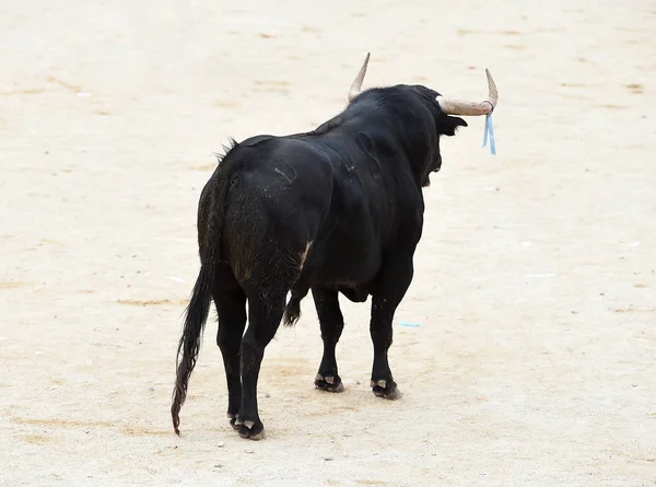
[{"label": "bull's rightmost front leg, standing on the sand", "polygon": [[373,292],[370,332],[374,363],[371,385],[376,396],[388,399],[401,396],[389,369],[387,351],[393,341],[394,314],[410,287],[413,273],[412,255],[396,256],[385,264]]}]

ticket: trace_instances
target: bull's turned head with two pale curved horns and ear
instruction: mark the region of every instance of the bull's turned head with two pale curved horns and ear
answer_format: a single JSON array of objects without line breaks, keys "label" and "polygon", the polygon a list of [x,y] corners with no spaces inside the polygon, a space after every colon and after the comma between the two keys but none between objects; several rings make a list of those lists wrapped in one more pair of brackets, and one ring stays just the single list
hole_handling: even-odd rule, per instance
[{"label": "bull's turned head with two pale curved horns and ear", "polygon": [[[351,84],[351,89],[349,90],[349,103],[353,102],[362,93],[362,82],[364,81],[364,76],[366,74],[366,67],[368,65],[370,57],[371,54],[367,54],[362,68],[360,68],[355,80],[353,80],[353,83]],[[437,137],[434,141],[432,158],[430,161],[426,161],[427,165],[417,169],[422,186],[429,186],[431,184],[429,179],[430,173],[440,171],[440,167],[442,166],[440,136],[450,137],[455,135],[457,127],[467,127],[467,123],[462,118],[453,115],[480,116],[491,114],[494,111],[496,102],[499,101],[499,93],[496,91],[494,80],[492,79],[492,76],[488,69],[485,69],[485,76],[488,77],[488,97],[482,102],[466,102],[462,100],[446,97],[429,88],[421,85],[399,85],[403,86],[405,90],[412,89],[417,90],[417,92],[421,92],[423,100],[433,100],[431,105],[433,106],[432,111],[434,114]]]}]

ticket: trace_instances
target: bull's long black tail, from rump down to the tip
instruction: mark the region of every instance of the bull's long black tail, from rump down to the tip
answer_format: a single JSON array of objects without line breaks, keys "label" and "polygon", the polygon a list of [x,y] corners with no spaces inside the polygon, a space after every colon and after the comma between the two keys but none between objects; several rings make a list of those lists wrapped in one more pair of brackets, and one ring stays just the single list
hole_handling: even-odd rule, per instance
[{"label": "bull's long black tail, from rump down to the tip", "polygon": [[[234,143],[236,146],[236,143]],[[200,273],[194,285],[191,300],[186,310],[183,336],[176,358],[176,381],[171,405],[173,428],[179,436],[179,411],[187,397],[187,384],[196,366],[202,332],[204,329],[214,287],[214,271],[221,260],[221,230],[225,214],[229,177],[218,167],[213,178],[203,188],[198,211]]]}]

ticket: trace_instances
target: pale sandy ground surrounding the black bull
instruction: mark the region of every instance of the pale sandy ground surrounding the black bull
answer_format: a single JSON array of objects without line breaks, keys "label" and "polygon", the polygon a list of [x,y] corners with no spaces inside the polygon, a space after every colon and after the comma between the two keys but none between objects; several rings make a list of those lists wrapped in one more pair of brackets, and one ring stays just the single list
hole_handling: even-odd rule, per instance
[{"label": "pale sandy ground surrounding the black bull", "polygon": [[[656,4],[272,3],[0,4],[0,485],[655,485]],[[499,155],[470,118],[425,190],[405,396],[371,393],[347,300],[347,391],[315,391],[306,300],[267,349],[267,439],[226,422],[213,321],[177,438],[212,152],[338,113],[367,50],[367,86],[480,98],[489,67],[501,93]]]}]

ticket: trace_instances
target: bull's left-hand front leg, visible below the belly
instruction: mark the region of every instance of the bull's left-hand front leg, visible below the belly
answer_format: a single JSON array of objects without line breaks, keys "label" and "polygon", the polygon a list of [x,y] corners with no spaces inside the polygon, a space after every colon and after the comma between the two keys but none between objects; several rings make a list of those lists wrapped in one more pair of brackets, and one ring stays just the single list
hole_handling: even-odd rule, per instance
[{"label": "bull's left-hand front leg, visible below the belly", "polygon": [[338,291],[313,288],[312,295],[319,316],[321,339],[324,340],[324,357],[315,378],[315,386],[328,392],[342,392],[344,385],[337,373],[335,357],[335,348],[344,328],[344,318],[339,309]]}]

